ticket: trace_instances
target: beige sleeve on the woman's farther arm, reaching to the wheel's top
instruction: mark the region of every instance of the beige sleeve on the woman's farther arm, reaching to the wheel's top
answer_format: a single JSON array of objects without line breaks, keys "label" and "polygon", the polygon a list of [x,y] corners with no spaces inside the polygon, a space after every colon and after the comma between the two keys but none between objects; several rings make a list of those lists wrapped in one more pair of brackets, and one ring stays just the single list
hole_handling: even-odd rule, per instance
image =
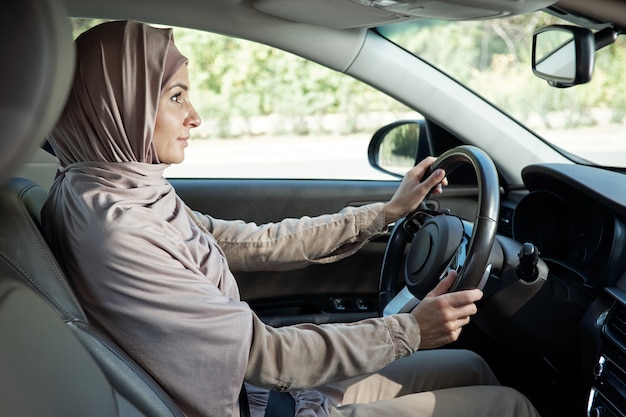
[{"label": "beige sleeve on the woman's farther arm, reaching to the wheel's top", "polygon": [[358,251],[386,227],[383,203],[263,225],[189,212],[215,237],[233,271],[281,271],[334,262]]}]

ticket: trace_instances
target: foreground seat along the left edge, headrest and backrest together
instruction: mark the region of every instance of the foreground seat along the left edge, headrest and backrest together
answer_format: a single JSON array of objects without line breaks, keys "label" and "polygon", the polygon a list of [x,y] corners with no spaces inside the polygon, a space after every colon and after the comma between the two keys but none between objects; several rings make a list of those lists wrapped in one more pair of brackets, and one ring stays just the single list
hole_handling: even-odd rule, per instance
[{"label": "foreground seat along the left edge, headrest and backrest together", "polygon": [[[0,182],[54,125],[73,70],[60,0],[5,0],[0,13]],[[9,260],[23,247],[0,208],[0,416],[116,417],[104,373]]]}]

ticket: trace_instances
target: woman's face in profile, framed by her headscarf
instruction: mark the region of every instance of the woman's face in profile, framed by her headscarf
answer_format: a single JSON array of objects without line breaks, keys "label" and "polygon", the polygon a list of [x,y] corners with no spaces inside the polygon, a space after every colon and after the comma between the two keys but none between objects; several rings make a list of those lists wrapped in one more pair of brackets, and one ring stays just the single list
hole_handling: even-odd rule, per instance
[{"label": "woman's face in profile, framed by her headscarf", "polygon": [[187,65],[182,65],[163,89],[157,108],[152,140],[164,164],[178,164],[185,159],[189,131],[201,123],[188,92],[189,74]]}]

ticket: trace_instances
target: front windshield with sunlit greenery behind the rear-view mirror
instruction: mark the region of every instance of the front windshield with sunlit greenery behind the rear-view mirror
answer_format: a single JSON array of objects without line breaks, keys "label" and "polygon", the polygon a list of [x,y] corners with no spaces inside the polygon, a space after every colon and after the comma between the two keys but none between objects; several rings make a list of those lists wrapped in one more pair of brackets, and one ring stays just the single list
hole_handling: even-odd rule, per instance
[{"label": "front windshield with sunlit greenery behind the rear-view mirror", "polygon": [[626,41],[596,53],[590,83],[553,88],[531,70],[545,13],[471,22],[419,20],[379,32],[465,84],[578,161],[626,167]]}]

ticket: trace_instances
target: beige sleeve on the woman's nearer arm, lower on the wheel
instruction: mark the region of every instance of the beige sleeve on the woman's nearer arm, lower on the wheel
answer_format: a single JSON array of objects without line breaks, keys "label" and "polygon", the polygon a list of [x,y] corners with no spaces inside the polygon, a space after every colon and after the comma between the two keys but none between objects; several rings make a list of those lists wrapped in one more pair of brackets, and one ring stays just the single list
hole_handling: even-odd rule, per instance
[{"label": "beige sleeve on the woman's nearer arm, lower on the wheel", "polygon": [[421,340],[410,314],[355,323],[272,328],[253,316],[246,381],[267,389],[306,389],[374,372],[414,353]]}]

